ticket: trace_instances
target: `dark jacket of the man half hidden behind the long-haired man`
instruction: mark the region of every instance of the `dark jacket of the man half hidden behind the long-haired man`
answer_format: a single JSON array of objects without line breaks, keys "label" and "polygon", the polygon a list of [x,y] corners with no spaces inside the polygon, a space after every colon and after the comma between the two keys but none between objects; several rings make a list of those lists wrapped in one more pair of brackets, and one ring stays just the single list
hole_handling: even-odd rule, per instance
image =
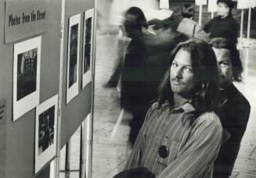
[{"label": "dark jacket of the man half hidden behind the long-haired man", "polygon": [[220,91],[219,116],[222,126],[230,133],[229,140],[222,144],[215,161],[214,178],[229,177],[240,149],[243,133],[247,128],[251,105],[247,99],[232,84]]}]

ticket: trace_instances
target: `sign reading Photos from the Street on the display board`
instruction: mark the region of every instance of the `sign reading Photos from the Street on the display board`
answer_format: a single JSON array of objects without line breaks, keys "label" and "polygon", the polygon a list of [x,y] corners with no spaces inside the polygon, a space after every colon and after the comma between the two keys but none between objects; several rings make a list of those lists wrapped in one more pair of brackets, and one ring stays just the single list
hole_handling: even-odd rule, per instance
[{"label": "sign reading Photos from the Street on the display board", "polygon": [[5,44],[47,31],[48,0],[5,1]]}]

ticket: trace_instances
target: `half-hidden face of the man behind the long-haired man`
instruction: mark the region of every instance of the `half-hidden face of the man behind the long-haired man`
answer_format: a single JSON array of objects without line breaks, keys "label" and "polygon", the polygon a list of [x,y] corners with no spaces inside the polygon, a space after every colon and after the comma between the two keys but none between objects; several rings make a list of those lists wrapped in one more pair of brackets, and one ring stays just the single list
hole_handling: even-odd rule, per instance
[{"label": "half-hidden face of the man behind the long-haired man", "polygon": [[230,60],[230,52],[225,48],[213,48],[218,62],[218,77],[221,88],[229,87],[232,84],[233,70]]}]

